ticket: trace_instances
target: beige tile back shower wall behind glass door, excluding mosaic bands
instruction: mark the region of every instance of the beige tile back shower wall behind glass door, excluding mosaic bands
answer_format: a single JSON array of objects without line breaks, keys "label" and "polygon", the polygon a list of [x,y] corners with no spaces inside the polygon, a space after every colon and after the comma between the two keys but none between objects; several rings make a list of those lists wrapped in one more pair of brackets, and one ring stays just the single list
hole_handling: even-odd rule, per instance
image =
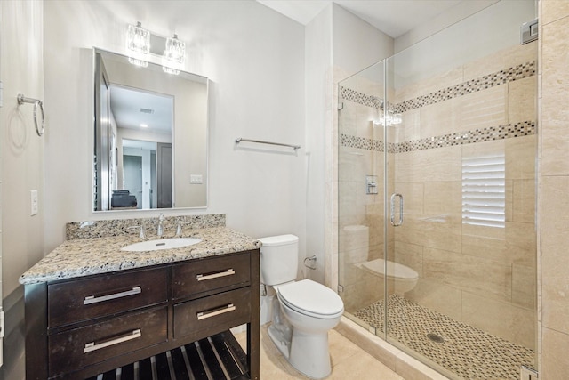
[{"label": "beige tile back shower wall behind glass door, excluding mosaic bands", "polygon": [[[536,43],[515,46],[397,92],[396,102],[536,59]],[[536,76],[491,86],[403,114],[398,142],[535,121]],[[504,228],[462,223],[463,158],[505,154]],[[536,136],[397,153],[396,190],[405,224],[395,260],[420,273],[405,296],[510,342],[535,348]]]}]

